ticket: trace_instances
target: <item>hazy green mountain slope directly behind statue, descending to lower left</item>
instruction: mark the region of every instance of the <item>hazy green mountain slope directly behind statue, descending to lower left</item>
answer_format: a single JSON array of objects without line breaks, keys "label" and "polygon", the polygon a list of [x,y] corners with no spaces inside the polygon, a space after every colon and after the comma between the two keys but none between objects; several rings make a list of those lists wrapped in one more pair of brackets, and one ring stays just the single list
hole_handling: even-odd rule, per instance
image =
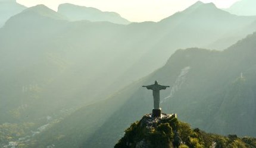
[{"label": "hazy green mountain slope directly behind statue, descending to lower left", "polygon": [[[204,49],[178,50],[161,69],[105,101],[81,108],[38,139],[51,134],[69,135],[57,143],[53,140],[47,142],[55,143],[57,147],[68,147],[65,141],[73,137],[80,139],[80,144],[76,143],[77,147],[113,147],[123,136],[122,131],[129,126],[128,123],[151,110],[152,92],[145,91],[141,86],[152,83],[152,80],[159,80],[173,88],[161,92],[161,101],[164,101],[161,104],[162,110],[177,112],[180,119],[190,122],[192,127],[224,135],[255,136],[255,40],[256,33],[224,52]],[[89,112],[96,112],[98,108],[105,113],[96,117],[89,115]],[[101,118],[100,122],[98,118]],[[72,123],[81,130],[77,130],[82,134],[81,137],[77,137],[78,133],[70,127]],[[92,123],[95,126],[92,127]],[[82,126],[77,127],[80,124]],[[65,131],[58,132],[64,128]],[[85,132],[90,131],[90,128],[93,128],[92,133]],[[98,128],[96,132],[95,128]],[[52,132],[48,133],[50,131]]]}]

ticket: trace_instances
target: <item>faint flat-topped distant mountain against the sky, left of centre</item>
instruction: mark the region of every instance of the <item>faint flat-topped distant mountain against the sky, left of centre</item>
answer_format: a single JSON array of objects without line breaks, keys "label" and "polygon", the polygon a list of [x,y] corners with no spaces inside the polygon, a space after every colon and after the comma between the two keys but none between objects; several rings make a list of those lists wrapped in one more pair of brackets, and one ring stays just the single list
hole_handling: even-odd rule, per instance
[{"label": "faint flat-topped distant mountain against the sky, left of centre", "polygon": [[61,4],[58,7],[58,12],[66,16],[70,21],[108,21],[116,24],[129,24],[130,22],[122,18],[115,12],[102,12],[99,9],[92,7],[83,7],[73,4]]}]

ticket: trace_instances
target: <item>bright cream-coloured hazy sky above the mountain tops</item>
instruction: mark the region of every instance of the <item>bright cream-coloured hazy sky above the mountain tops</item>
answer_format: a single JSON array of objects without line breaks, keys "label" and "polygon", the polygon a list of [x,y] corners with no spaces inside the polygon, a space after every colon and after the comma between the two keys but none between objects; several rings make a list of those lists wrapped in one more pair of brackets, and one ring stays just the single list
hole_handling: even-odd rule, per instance
[{"label": "bright cream-coloured hazy sky above the mountain tops", "polygon": [[[17,0],[18,3],[31,7],[44,4],[57,11],[58,5],[71,3],[94,7],[102,11],[114,11],[130,21],[160,21],[177,11],[194,4],[198,0]],[[202,0],[214,2],[218,8],[230,7],[239,0]]]}]

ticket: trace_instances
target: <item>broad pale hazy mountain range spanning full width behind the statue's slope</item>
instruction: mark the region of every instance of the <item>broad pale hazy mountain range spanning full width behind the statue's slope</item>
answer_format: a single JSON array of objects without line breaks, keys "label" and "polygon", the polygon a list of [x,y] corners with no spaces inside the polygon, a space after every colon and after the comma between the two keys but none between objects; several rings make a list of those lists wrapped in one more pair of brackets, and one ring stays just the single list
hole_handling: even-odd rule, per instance
[{"label": "broad pale hazy mountain range spanning full width behind the statue's slope", "polygon": [[[206,8],[209,7],[211,11],[208,12]],[[225,15],[220,19],[219,14]],[[5,79],[1,83],[8,82],[8,90],[15,88],[15,93],[6,90],[9,93],[5,93],[4,98],[15,100],[15,103],[7,102],[9,108],[5,111],[18,108],[22,104],[18,98],[26,99],[23,102],[31,103],[31,107],[38,106],[27,101],[27,95],[20,91],[23,86],[35,83],[42,91],[31,93],[36,93],[36,98],[40,98],[45,106],[49,105],[49,112],[66,104],[71,107],[104,99],[163,66],[175,50],[205,46],[220,39],[223,30],[239,33],[236,28],[247,27],[253,21],[254,17],[237,17],[202,2],[160,22],[129,25],[86,20],[70,22],[44,5],[28,8],[11,17],[0,30],[1,65],[8,69],[2,72]],[[219,25],[214,25],[215,22]],[[248,27],[235,38],[238,40],[252,30]],[[233,34],[229,35],[227,37],[233,37]],[[228,46],[233,42],[224,44]],[[32,73],[31,78],[26,72]],[[12,81],[14,73],[19,73],[23,79]],[[76,101],[72,99],[74,95],[77,95]],[[63,104],[43,100],[63,100]],[[50,107],[54,105],[56,108]],[[47,114],[41,109],[37,110],[38,114]],[[33,113],[37,114],[36,111]]]}]

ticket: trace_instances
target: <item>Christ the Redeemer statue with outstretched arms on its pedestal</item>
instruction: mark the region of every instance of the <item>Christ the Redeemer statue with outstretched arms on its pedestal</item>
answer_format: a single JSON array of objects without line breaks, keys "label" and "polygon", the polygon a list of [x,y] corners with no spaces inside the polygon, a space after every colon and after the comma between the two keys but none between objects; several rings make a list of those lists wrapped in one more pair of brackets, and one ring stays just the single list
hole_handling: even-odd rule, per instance
[{"label": "Christ the Redeemer statue with outstretched arms on its pedestal", "polygon": [[161,108],[160,108],[160,90],[166,89],[170,86],[163,86],[158,84],[157,81],[155,81],[155,84],[148,85],[148,86],[142,86],[147,89],[151,89],[153,91],[154,96],[154,108],[153,108],[153,116],[154,117],[160,117],[161,116]]}]

